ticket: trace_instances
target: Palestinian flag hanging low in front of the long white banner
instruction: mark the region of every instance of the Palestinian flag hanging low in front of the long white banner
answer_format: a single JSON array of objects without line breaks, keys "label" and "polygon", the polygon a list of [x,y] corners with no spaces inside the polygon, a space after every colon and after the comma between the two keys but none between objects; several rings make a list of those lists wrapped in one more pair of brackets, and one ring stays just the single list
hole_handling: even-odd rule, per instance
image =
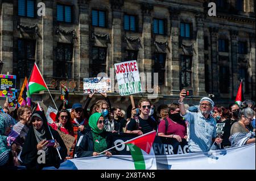
[{"label": "Palestinian flag hanging low in front of the long white banner", "polygon": [[[148,134],[144,134],[141,137],[136,138],[135,140],[125,143],[130,148],[135,169],[156,169],[156,158],[154,149],[152,149],[152,145],[155,140],[155,134],[156,132],[152,131]],[[151,157],[152,159],[146,159],[146,157]],[[152,166],[155,167],[152,168]]]}]

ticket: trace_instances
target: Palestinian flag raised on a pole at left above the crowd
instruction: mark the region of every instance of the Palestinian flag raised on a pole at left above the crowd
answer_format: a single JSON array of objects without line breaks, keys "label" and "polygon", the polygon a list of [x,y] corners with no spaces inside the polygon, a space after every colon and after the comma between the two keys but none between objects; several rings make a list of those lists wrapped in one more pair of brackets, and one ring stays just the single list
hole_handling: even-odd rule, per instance
[{"label": "Palestinian flag raised on a pole at left above the crowd", "polygon": [[28,89],[30,90],[30,95],[42,90],[48,90],[46,82],[44,82],[44,79],[36,64],[34,65],[34,68],[30,75],[30,81],[28,82]]}]

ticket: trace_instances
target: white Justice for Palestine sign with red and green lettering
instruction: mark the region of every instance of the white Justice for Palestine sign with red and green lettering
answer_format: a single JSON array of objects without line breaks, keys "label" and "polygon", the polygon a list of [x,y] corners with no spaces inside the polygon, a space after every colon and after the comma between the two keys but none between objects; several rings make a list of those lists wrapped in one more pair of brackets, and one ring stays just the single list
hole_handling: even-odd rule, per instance
[{"label": "white Justice for Palestine sign with red and green lettering", "polygon": [[136,60],[115,64],[120,95],[131,95],[142,92],[139,68]]}]

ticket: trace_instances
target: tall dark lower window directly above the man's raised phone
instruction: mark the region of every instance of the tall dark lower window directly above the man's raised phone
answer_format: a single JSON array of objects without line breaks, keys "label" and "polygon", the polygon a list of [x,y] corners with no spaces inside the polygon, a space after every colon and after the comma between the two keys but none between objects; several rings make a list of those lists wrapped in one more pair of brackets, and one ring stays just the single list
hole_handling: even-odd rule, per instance
[{"label": "tall dark lower window directly above the man's raised phone", "polygon": [[[189,58],[189,61],[190,61],[190,64],[191,64],[191,69],[190,70],[188,70],[187,69],[187,61],[185,61],[185,70],[183,70],[183,68],[182,68],[182,61],[183,60],[186,60],[187,58]],[[185,54],[181,54],[181,56],[180,56],[180,88],[181,89],[183,89],[184,87],[192,87],[192,61],[193,61],[193,56],[189,56],[189,55],[185,55]],[[187,85],[183,85],[183,82],[182,82],[182,78],[181,78],[181,76],[182,76],[182,72],[185,72],[185,83],[187,84]],[[188,85],[188,81],[187,81],[187,79],[186,79],[186,77],[187,77],[187,73],[189,73],[190,74],[190,85]]]}]

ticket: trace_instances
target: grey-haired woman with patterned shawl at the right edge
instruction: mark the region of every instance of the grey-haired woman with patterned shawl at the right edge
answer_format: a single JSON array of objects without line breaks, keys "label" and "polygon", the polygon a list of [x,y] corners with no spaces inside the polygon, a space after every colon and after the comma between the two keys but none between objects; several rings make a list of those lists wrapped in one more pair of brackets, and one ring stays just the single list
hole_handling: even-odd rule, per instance
[{"label": "grey-haired woman with patterned shawl at the right edge", "polygon": [[232,147],[255,143],[255,132],[246,128],[253,121],[254,111],[247,104],[242,104],[238,114],[238,121],[234,123],[230,130],[229,141]]}]

